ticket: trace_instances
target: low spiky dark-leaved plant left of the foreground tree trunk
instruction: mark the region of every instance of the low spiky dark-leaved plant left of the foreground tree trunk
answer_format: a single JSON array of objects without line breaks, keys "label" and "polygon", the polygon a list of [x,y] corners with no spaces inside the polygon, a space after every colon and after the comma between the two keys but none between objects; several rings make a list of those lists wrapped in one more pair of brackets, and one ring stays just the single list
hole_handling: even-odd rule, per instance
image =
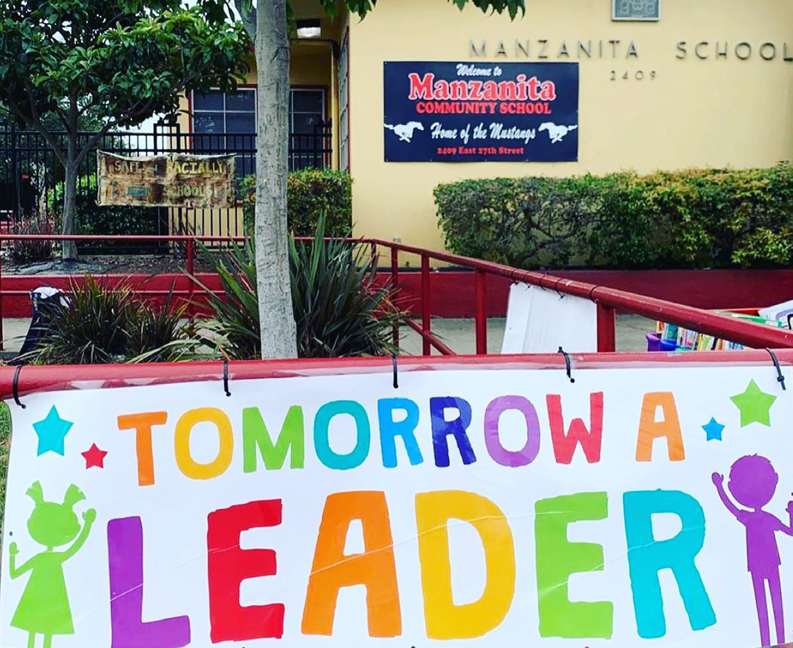
[{"label": "low spiky dark-leaved plant left of the foreground tree trunk", "polygon": [[185,306],[152,309],[128,284],[109,287],[90,274],[72,282],[69,305],[43,305],[49,320],[40,346],[19,360],[34,364],[170,362],[193,353],[197,343],[182,326]]}]

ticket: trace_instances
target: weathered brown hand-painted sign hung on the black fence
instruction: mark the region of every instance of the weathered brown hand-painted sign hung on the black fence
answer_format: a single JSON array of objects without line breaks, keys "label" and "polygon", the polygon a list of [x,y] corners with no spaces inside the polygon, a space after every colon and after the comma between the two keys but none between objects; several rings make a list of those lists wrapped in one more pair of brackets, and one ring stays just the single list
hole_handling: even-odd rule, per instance
[{"label": "weathered brown hand-painted sign hung on the black fence", "polygon": [[232,207],[234,155],[125,157],[98,151],[99,205]]}]

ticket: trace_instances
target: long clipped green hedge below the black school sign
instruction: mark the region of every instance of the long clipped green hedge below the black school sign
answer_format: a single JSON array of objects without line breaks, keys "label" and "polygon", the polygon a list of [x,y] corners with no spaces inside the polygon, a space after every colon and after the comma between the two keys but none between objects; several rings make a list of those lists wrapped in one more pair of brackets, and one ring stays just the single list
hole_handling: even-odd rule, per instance
[{"label": "long clipped green hedge below the black school sign", "polygon": [[435,189],[446,247],[511,266],[793,263],[793,168],[496,178]]}]

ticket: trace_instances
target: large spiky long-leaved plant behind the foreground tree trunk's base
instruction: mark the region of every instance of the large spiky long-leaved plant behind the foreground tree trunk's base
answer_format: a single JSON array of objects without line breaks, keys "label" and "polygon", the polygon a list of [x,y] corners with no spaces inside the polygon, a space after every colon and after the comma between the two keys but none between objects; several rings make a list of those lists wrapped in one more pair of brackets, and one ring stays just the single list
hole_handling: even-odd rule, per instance
[{"label": "large spiky long-leaved plant behind the foreground tree trunk's base", "polygon": [[[378,286],[376,270],[366,251],[343,240],[324,240],[324,219],[313,232],[316,242],[289,245],[289,270],[297,351],[301,358],[340,358],[391,355],[393,327],[406,314],[395,306],[397,290]],[[204,342],[228,358],[259,358],[259,301],[256,266],[250,242],[223,254],[202,248],[207,262],[220,276],[223,294],[205,291],[213,315],[197,329]]]}]

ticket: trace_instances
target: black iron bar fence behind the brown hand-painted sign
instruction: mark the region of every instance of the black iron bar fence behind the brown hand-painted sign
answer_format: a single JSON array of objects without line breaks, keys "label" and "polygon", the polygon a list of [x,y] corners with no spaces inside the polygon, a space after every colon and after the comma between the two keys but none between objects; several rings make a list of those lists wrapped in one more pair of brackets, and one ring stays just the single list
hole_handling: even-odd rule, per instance
[{"label": "black iron bar fence behind the brown hand-painted sign", "polygon": [[[65,145],[65,133],[54,133],[52,137],[59,145]],[[92,132],[80,133],[79,145],[94,137]],[[237,176],[243,178],[255,173],[255,134],[182,132],[178,125],[157,125],[150,132],[113,132],[98,139],[79,171],[76,234],[243,235],[241,208],[98,206],[96,150],[120,155],[234,154]],[[290,170],[327,168],[331,164],[330,122],[318,125],[312,133],[289,135]],[[0,125],[0,232],[58,232],[59,214],[63,209],[63,176],[63,167],[44,136]],[[86,253],[100,251],[85,243],[81,247]]]}]

